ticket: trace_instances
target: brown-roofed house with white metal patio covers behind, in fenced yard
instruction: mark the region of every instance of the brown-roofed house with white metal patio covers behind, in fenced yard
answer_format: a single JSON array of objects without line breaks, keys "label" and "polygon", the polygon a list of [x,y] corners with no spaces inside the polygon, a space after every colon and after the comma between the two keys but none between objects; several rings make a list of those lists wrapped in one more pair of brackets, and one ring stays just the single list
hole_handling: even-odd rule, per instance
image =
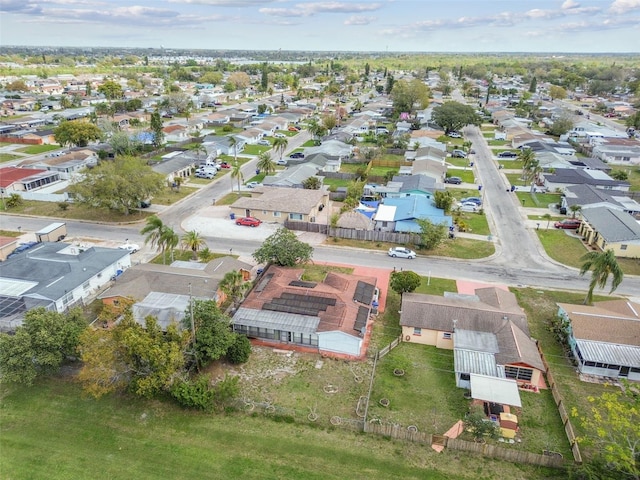
[{"label": "brown-roofed house with white metal patio covers behind, in fenced yard", "polygon": [[514,406],[519,406],[518,385],[544,385],[542,358],[511,292],[487,287],[475,295],[406,293],[400,325],[406,342],[453,349],[456,385],[471,388],[472,396],[474,376],[510,380],[496,383],[506,401],[482,400]]}]

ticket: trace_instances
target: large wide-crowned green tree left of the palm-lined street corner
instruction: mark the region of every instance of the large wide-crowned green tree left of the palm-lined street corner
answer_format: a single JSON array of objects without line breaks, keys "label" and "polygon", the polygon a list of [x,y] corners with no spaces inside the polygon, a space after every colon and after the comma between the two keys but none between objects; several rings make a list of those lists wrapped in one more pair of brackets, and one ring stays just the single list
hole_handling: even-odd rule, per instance
[{"label": "large wide-crowned green tree left of the palm-lined street corner", "polygon": [[165,188],[164,175],[144,161],[120,156],[85,170],[69,186],[76,203],[117,210],[125,215]]}]

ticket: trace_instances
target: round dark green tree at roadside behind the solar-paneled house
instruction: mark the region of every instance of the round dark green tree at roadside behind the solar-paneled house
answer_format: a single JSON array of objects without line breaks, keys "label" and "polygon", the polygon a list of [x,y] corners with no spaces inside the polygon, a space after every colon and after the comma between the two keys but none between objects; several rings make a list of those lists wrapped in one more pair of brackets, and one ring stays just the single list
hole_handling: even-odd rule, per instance
[{"label": "round dark green tree at roadside behind the solar-paneled house", "polygon": [[298,240],[296,234],[284,227],[267,237],[262,246],[253,252],[258,263],[274,263],[284,267],[293,267],[307,263],[313,255],[313,247]]}]

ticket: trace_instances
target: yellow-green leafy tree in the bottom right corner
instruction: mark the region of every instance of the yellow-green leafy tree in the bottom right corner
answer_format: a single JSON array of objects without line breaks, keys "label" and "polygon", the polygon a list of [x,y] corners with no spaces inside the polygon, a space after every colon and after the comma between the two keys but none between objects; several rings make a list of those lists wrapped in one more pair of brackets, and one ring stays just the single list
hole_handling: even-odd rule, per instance
[{"label": "yellow-green leafy tree in the bottom right corner", "polygon": [[[591,407],[579,415],[588,436],[578,442],[596,446],[607,464],[607,470],[617,473],[613,478],[640,479],[640,395],[629,382],[623,386],[608,386],[599,397],[589,396]],[[600,478],[600,477],[598,477]]]}]

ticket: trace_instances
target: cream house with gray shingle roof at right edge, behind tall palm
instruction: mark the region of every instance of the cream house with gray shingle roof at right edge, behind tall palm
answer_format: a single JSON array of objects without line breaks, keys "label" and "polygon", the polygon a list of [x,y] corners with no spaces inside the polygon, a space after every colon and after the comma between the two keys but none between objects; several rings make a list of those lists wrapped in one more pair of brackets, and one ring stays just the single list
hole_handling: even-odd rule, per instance
[{"label": "cream house with gray shingle roof at right edge, behind tall palm", "polygon": [[583,222],[577,230],[588,245],[613,250],[616,257],[640,257],[640,223],[620,210],[595,207],[582,211]]}]

